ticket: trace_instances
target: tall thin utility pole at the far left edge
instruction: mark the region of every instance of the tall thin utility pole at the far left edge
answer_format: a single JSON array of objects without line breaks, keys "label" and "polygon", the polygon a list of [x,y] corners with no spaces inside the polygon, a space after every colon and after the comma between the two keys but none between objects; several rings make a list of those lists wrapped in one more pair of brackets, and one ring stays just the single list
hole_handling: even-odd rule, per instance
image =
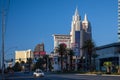
[{"label": "tall thin utility pole at the far left edge", "polygon": [[2,7],[2,80],[4,80],[4,33],[5,33],[5,12]]}]

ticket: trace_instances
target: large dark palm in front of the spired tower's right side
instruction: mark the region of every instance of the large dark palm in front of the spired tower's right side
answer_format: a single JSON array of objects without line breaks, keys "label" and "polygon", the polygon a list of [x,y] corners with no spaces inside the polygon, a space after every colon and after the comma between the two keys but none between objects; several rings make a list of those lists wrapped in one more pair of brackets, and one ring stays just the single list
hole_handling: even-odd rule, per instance
[{"label": "large dark palm in front of the spired tower's right side", "polygon": [[85,49],[87,51],[88,60],[89,60],[88,64],[90,65],[90,69],[91,69],[91,57],[94,48],[95,48],[95,44],[92,40],[86,40],[82,47],[82,49]]}]

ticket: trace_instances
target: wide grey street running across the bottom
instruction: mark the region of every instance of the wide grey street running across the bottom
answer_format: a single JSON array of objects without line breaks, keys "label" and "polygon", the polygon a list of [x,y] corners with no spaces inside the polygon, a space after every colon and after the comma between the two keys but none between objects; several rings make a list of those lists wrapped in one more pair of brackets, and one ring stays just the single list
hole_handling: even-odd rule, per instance
[{"label": "wide grey street running across the bottom", "polygon": [[95,74],[51,74],[45,73],[44,77],[33,77],[31,73],[14,73],[5,77],[5,80],[120,80],[117,75]]}]

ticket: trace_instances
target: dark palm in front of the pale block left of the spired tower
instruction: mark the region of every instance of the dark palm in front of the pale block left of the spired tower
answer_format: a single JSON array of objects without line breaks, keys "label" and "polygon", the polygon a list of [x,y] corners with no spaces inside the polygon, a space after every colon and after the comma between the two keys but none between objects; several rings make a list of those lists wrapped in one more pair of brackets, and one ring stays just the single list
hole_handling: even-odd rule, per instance
[{"label": "dark palm in front of the pale block left of the spired tower", "polygon": [[59,52],[59,55],[60,55],[60,60],[61,60],[61,71],[63,71],[63,55],[65,54],[66,52],[66,44],[62,43],[59,45],[58,47],[58,52]]}]

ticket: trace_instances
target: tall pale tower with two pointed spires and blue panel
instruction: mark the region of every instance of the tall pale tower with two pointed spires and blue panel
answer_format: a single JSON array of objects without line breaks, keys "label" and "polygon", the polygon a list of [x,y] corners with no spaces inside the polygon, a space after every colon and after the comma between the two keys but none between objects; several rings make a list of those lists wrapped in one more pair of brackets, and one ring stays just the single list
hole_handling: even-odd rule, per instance
[{"label": "tall pale tower with two pointed spires and blue panel", "polygon": [[78,9],[76,8],[75,14],[72,18],[71,23],[71,48],[75,52],[76,56],[83,56],[84,51],[81,49],[86,40],[92,39],[91,36],[91,25],[87,19],[87,15],[85,14],[84,20],[81,21],[81,17],[79,16]]}]

